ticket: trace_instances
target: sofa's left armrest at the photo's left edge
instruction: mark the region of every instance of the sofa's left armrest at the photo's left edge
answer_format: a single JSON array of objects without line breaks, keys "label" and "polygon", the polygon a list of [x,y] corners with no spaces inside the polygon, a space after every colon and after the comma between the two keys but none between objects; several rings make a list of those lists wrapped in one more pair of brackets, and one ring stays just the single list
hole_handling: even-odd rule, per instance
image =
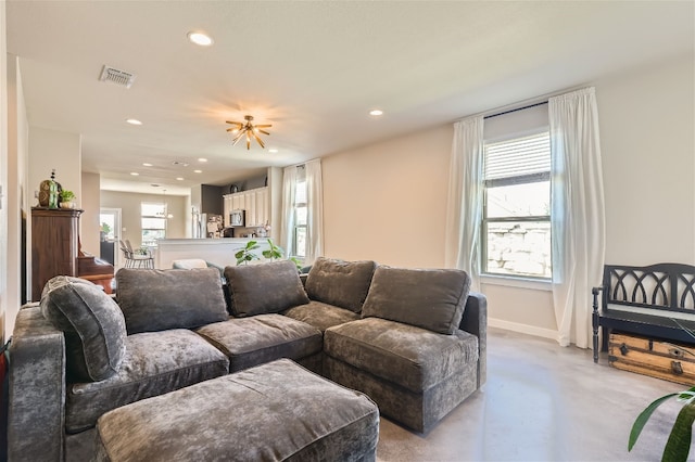
[{"label": "sofa's left armrest at the photo's left edge", "polygon": [[17,313],[10,360],[8,460],[63,460],[65,337],[40,308]]}]

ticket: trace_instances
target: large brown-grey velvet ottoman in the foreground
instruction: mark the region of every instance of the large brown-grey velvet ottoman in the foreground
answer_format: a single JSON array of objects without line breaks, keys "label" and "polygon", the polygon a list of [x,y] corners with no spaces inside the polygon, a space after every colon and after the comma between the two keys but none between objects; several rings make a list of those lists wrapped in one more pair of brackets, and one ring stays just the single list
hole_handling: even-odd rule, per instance
[{"label": "large brown-grey velvet ottoman in the foreground", "polygon": [[379,410],[289,359],[103,414],[99,461],[374,461]]}]

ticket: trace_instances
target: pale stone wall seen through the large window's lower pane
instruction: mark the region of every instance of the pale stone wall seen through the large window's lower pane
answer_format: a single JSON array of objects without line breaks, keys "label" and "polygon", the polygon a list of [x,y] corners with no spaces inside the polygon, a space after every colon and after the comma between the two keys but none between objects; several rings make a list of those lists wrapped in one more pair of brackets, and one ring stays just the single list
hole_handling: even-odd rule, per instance
[{"label": "pale stone wall seen through the large window's lower pane", "polygon": [[551,277],[551,223],[488,224],[488,272]]}]

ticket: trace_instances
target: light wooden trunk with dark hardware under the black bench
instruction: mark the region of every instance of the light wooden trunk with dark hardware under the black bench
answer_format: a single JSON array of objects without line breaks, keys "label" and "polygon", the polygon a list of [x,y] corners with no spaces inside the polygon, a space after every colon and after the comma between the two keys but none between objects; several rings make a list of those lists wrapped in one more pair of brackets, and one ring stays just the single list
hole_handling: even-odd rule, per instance
[{"label": "light wooden trunk with dark hardware under the black bench", "polygon": [[695,345],[616,333],[610,334],[608,362],[623,371],[695,385]]}]

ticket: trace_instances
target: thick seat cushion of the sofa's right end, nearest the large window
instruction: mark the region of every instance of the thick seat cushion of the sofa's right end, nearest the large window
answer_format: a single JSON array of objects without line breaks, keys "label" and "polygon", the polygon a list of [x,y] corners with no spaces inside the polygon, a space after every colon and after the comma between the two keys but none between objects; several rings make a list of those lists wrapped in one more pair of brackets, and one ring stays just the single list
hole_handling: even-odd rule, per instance
[{"label": "thick seat cushion of the sofa's right end, nearest the large window", "polygon": [[478,361],[478,337],[464,331],[443,335],[367,318],[327,329],[324,351],[413,393],[422,393]]}]

